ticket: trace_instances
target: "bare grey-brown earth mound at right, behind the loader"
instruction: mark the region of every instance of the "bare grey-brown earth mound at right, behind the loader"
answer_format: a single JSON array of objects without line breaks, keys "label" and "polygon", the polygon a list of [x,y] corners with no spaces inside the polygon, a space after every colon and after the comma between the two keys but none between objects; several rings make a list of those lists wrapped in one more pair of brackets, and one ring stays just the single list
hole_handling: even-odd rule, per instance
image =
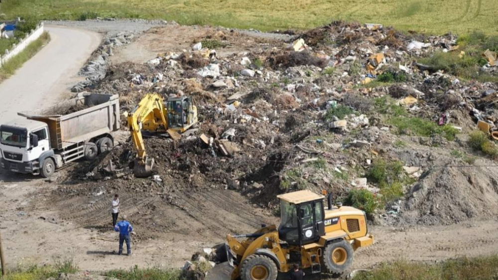
[{"label": "bare grey-brown earth mound at right, behind the loader", "polygon": [[498,174],[493,167],[430,170],[411,190],[404,219],[426,225],[487,218],[498,211]]}]

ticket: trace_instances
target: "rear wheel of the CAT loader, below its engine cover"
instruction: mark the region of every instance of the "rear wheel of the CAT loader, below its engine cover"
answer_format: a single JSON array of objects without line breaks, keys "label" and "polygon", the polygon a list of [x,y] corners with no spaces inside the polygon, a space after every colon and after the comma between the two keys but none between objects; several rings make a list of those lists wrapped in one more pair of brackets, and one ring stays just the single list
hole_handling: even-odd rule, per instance
[{"label": "rear wheel of the CAT loader, below its engine cover", "polygon": [[353,247],[344,239],[329,243],[325,247],[323,261],[330,273],[342,274],[353,264]]}]

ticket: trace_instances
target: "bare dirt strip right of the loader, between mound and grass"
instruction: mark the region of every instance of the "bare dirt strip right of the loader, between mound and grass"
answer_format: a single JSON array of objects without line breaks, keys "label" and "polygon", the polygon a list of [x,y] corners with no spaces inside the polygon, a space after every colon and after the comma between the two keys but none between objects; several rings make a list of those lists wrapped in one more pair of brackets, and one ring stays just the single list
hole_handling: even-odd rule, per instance
[{"label": "bare dirt strip right of the loader, between mound and grass", "polygon": [[455,257],[472,257],[498,253],[496,221],[450,226],[408,227],[396,229],[373,227],[374,244],[360,248],[355,268],[368,268],[380,262],[399,259],[434,261]]}]

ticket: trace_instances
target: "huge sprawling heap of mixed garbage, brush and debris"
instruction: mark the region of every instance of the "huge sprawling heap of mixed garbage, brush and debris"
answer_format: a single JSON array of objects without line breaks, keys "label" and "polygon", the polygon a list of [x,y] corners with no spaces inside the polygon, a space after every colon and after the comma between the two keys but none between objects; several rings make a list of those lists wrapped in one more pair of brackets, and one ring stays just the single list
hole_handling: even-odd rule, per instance
[{"label": "huge sprawling heap of mixed garbage, brush and debris", "polygon": [[[248,36],[213,29],[209,44],[196,38],[189,50],[163,53],[143,65],[113,65],[91,86],[77,86],[120,94],[122,111],[147,92],[188,95],[196,102],[200,123],[193,134],[145,139],[158,177],[113,177],[118,187],[236,189],[264,207],[274,206],[274,194],[301,188],[375,192],[365,171],[394,137],[392,124],[373,110],[381,96],[394,99],[405,117],[459,131],[475,129],[478,121],[488,131],[498,125],[496,83],[464,82],[417,62],[436,51],[458,51],[455,35],[337,21],[288,42],[251,39],[255,43],[248,45]],[[221,55],[220,46],[237,45],[237,52]],[[487,52],[486,58],[487,67],[495,67],[496,54]],[[415,179],[421,173],[406,172]]]}]

